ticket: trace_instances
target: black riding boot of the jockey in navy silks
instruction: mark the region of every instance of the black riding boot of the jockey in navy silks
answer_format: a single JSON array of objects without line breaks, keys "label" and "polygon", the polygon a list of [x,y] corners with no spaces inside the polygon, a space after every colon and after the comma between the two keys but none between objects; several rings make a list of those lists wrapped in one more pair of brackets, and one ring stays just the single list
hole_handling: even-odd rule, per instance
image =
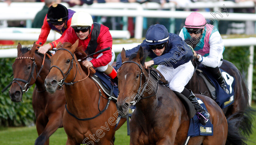
[{"label": "black riding boot of the jockey in navy silks", "polygon": [[196,96],[193,94],[193,92],[191,90],[190,90],[190,95],[189,95],[188,99],[194,105],[195,110],[200,118],[201,124],[205,125],[206,122],[208,121],[208,119],[210,118],[210,114],[208,112],[206,112],[206,110],[199,104]]}]

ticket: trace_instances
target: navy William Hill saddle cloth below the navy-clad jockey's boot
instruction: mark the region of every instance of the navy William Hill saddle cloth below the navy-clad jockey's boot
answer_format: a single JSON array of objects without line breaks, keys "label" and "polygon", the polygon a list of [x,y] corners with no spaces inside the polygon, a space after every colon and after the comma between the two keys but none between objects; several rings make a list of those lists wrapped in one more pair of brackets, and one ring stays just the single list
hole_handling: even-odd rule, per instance
[{"label": "navy William Hill saddle cloth below the navy-clad jockey's boot", "polygon": [[[207,111],[206,106],[204,105],[204,103],[198,99],[198,102],[200,103],[200,105],[202,107],[204,107],[204,109]],[[194,136],[213,136],[213,125],[210,121],[210,119],[207,121],[206,125],[203,126],[197,115],[195,115],[193,118],[190,119],[189,121],[189,129],[188,129],[188,133],[187,136],[190,137],[194,137]]]}]

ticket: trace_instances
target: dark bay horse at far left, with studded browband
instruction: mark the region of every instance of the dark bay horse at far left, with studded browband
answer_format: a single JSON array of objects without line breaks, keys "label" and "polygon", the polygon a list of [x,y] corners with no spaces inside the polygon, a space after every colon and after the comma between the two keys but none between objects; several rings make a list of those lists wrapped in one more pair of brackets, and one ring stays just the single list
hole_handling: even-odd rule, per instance
[{"label": "dark bay horse at far left, with studded browband", "polygon": [[[35,53],[35,43],[31,50],[27,47],[17,46],[18,57],[12,64],[13,76],[9,96],[13,102],[20,102],[24,91],[28,86],[35,88],[32,97],[32,105],[36,116],[38,137],[36,145],[48,145],[49,137],[62,126],[64,105],[66,103],[64,91],[49,94],[44,88],[44,79],[49,69],[50,61],[42,54]],[[44,65],[42,67],[44,61]],[[39,72],[40,71],[40,72]],[[24,90],[24,91],[23,91]]]}]

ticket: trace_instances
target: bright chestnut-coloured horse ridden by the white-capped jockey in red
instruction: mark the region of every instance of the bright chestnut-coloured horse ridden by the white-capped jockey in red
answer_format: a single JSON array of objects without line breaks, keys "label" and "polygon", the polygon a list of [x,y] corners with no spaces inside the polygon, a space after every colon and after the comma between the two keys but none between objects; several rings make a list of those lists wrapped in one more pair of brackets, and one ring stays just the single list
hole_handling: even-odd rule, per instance
[{"label": "bright chestnut-coloured horse ridden by the white-capped jockey in red", "polygon": [[119,113],[115,102],[100,91],[99,85],[89,76],[89,68],[83,71],[77,64],[74,55],[77,46],[78,40],[73,45],[58,43],[45,79],[45,87],[50,93],[55,93],[59,86],[66,84],[66,109],[63,115],[63,127],[68,136],[66,145],[114,144],[115,131],[126,119],[121,118],[115,127]]}]

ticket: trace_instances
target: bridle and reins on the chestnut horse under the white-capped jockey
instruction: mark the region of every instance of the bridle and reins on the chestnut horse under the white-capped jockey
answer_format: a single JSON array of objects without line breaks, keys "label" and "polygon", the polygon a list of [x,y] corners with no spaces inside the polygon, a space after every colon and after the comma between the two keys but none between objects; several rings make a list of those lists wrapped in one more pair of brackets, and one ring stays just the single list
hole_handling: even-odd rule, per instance
[{"label": "bridle and reins on the chestnut horse under the white-capped jockey", "polygon": [[59,87],[57,88],[58,90],[62,90],[62,89],[63,89],[62,85],[73,85],[73,84],[75,84],[75,83],[77,83],[77,82],[79,82],[79,81],[83,81],[84,79],[88,78],[88,76],[89,76],[89,74],[90,74],[90,71],[89,71],[89,68],[87,67],[87,69],[88,69],[88,75],[87,75],[86,78],[83,78],[82,80],[73,82],[73,81],[76,79],[76,75],[75,75],[75,77],[73,78],[72,81],[66,83],[65,80],[66,80],[68,74],[70,74],[71,69],[73,68],[73,63],[74,63],[74,61],[75,61],[75,63],[76,63],[76,74],[77,74],[77,70],[78,70],[78,72],[79,72],[80,75],[81,75],[81,73],[80,73],[80,71],[79,71],[79,69],[78,69],[77,62],[76,62],[76,60],[75,60],[74,54],[72,54],[69,50],[67,50],[67,49],[65,49],[65,48],[59,48],[59,49],[57,49],[56,51],[58,51],[58,50],[66,50],[66,51],[68,51],[68,52],[71,54],[71,56],[72,56],[72,60],[71,60],[71,62],[70,62],[69,70],[68,70],[65,74],[64,74],[63,71],[62,71],[58,66],[56,66],[56,65],[53,65],[53,66],[50,67],[50,70],[49,70],[49,71],[51,71],[52,67],[56,67],[56,68],[61,72],[61,74],[62,74],[62,76],[63,76],[63,79],[62,79],[60,82],[58,82],[58,85],[59,85]]}]

